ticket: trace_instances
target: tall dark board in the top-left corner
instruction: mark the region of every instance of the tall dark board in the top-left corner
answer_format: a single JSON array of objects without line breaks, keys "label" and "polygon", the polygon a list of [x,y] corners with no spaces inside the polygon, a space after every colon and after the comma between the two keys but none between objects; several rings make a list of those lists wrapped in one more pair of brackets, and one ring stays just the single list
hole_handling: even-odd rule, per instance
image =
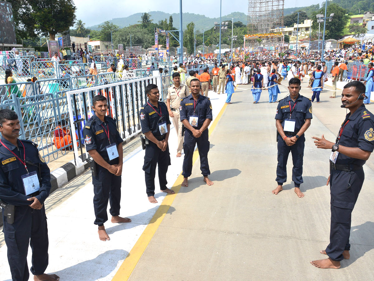
[{"label": "tall dark board in the top-left corner", "polygon": [[12,4],[0,1],[0,42],[1,44],[16,44]]}]

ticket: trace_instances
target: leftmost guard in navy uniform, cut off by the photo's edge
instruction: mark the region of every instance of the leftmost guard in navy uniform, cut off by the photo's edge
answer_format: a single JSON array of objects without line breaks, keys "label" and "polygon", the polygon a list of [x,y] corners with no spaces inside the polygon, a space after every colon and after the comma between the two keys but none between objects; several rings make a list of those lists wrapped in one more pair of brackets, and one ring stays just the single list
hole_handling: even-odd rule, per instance
[{"label": "leftmost guard in navy uniform, cut off by the photo's edge", "polygon": [[32,250],[34,280],[58,280],[44,274],[48,266],[48,229],[44,201],[51,188],[50,170],[37,145],[20,140],[17,114],[0,111],[0,199],[3,232],[13,281],[29,278],[27,251]]}]

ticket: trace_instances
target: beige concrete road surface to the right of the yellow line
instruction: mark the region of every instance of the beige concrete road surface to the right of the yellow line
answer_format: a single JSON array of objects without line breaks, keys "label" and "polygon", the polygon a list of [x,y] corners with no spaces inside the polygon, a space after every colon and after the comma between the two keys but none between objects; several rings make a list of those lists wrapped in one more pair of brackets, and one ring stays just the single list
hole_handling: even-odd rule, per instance
[{"label": "beige concrete road surface to the right of the yellow line", "polygon": [[[285,96],[286,88],[281,91]],[[129,280],[374,280],[374,172],[368,166],[352,214],[350,260],[339,270],[309,263],[326,257],[319,251],[329,243],[330,225],[330,151],[317,149],[311,137],[324,133],[334,140],[345,116],[340,99],[330,95],[322,93],[323,102],[313,103],[317,113],[306,132],[301,185],[305,197],[298,198],[291,155],[284,191],[271,193],[278,103],[267,102],[267,91],[256,105],[250,91],[235,93],[209,139],[214,185],[204,184],[197,161],[189,186],[181,188]]]}]

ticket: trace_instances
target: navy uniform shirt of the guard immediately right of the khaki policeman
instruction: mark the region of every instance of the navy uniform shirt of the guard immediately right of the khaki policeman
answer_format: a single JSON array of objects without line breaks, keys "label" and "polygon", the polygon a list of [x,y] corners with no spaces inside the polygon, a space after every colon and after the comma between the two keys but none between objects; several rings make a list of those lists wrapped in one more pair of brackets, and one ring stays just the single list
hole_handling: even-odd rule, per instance
[{"label": "navy uniform shirt of the guard immediately right of the khaki policeman", "polygon": [[[196,106],[195,106],[196,105]],[[206,119],[213,120],[212,115],[212,104],[208,97],[199,94],[199,98],[196,103],[194,102],[192,94],[181,100],[180,106],[180,119],[181,121],[190,121],[190,116],[196,115],[199,117],[199,122],[197,124],[197,129],[203,126]]]}]

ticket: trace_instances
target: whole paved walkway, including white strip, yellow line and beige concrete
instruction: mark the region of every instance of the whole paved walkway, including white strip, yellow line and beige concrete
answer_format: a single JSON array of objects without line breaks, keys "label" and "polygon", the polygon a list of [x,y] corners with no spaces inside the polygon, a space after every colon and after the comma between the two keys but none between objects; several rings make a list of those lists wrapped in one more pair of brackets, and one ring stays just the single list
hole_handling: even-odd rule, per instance
[{"label": "whole paved walkway, including white strip, yellow line and beige concrete", "polygon": [[[288,93],[285,87],[280,89],[280,97]],[[312,95],[310,90],[301,94]],[[80,281],[374,280],[374,207],[370,200],[374,196],[374,158],[364,167],[364,186],[352,214],[351,259],[344,260],[339,270],[309,264],[325,257],[319,251],[328,244],[330,218],[325,185],[330,152],[315,148],[311,137],[324,133],[334,140],[345,116],[340,99],[328,99],[330,95],[323,92],[321,100],[326,102],[313,103],[301,185],[304,198],[298,198],[292,189],[291,156],[285,190],[276,196],[271,193],[276,187],[274,116],[278,104],[267,102],[267,91],[254,105],[251,91],[238,90],[233,104],[222,110],[226,94],[209,93],[214,122],[209,129],[208,158],[214,185],[202,181],[197,159],[189,186],[181,188],[183,159],[174,157],[172,129],[168,181],[178,194],[165,197],[157,193],[159,204],[148,203],[141,170],[144,152],[135,140],[124,158],[121,201],[121,215],[132,218],[132,223],[106,223],[111,240],[99,241],[92,223],[92,184],[86,172],[59,188],[46,204],[47,272],[58,274],[60,280]],[[0,257],[0,280],[10,280],[6,246],[0,248]]]}]

